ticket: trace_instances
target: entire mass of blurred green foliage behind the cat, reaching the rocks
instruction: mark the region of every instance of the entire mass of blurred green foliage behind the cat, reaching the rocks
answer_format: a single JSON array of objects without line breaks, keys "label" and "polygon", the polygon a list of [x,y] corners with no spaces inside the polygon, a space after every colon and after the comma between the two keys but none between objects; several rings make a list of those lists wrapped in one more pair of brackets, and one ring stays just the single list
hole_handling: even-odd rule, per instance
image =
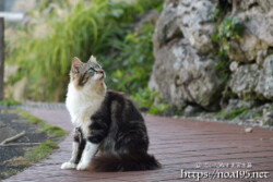
[{"label": "entire mass of blurred green foliage behind the cat, reaching the rocks", "polygon": [[147,88],[156,20],[138,24],[162,7],[163,0],[40,1],[28,12],[38,21],[7,41],[7,62],[19,66],[10,84],[26,77],[27,99],[63,101],[71,59],[85,62],[94,54],[107,73],[108,88],[129,94],[140,107],[155,106],[153,113],[166,109],[158,94]]}]

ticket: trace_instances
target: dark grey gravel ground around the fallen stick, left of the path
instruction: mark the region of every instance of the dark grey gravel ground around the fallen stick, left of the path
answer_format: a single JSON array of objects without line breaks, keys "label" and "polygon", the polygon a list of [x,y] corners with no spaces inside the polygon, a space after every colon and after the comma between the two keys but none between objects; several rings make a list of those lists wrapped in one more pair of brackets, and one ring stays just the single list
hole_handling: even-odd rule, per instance
[{"label": "dark grey gravel ground around the fallen stick, left of the path", "polygon": [[[8,109],[0,109],[0,123],[1,128],[12,129],[16,134],[25,131],[26,135],[15,143],[43,143],[48,136],[46,133],[40,132],[40,126],[36,124],[27,124],[15,114],[8,112]],[[1,133],[0,133],[1,135]],[[23,170],[28,166],[26,162],[13,162],[24,153],[29,150],[31,146],[0,146],[0,180],[8,178],[14,171]],[[17,161],[17,160],[16,160]],[[21,160],[22,161],[22,160]]]}]

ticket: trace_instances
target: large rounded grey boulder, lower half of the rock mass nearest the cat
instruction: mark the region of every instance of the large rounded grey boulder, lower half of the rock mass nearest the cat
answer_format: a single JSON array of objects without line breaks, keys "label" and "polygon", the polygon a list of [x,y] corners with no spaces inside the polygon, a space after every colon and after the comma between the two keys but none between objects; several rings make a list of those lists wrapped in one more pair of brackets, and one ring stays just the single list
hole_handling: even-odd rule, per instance
[{"label": "large rounded grey boulder, lower half of the rock mass nearest the cat", "polygon": [[159,88],[161,94],[178,108],[186,102],[213,107],[221,88],[221,80],[215,76],[215,60],[199,56],[187,39],[162,47],[155,57],[156,71],[150,87],[156,83],[154,88]]}]

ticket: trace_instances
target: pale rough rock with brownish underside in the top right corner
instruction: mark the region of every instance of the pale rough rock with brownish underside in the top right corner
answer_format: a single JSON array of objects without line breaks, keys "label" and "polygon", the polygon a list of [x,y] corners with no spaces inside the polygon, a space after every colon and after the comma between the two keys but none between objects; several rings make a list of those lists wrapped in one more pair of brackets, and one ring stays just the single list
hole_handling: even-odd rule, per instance
[{"label": "pale rough rock with brownish underside in the top right corner", "polygon": [[244,0],[239,4],[239,10],[230,15],[245,26],[245,33],[239,43],[233,43],[233,46],[237,49],[237,51],[229,52],[233,60],[252,62],[257,59],[259,51],[273,46],[272,8],[272,1]]}]

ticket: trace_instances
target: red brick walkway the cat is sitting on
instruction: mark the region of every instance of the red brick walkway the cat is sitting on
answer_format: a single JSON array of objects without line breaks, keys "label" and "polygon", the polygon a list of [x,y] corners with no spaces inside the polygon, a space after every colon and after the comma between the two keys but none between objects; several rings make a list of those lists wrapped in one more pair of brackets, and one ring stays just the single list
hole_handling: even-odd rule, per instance
[{"label": "red brick walkway the cat is sitting on", "polygon": [[[72,130],[69,114],[66,110],[29,110],[33,114],[59,125],[67,131]],[[163,168],[154,171],[95,173],[87,171],[61,170],[62,162],[69,160],[72,136],[69,135],[60,143],[48,159],[43,160],[4,182],[50,181],[50,182],[85,182],[85,181],[198,181],[197,179],[181,179],[181,169],[189,172],[215,172],[211,179],[200,181],[273,181],[273,132],[253,129],[252,133],[245,133],[245,126],[200,122],[190,120],[175,120],[159,117],[145,117],[151,138],[150,154],[162,162]],[[236,169],[237,162],[251,163],[252,168]],[[197,163],[202,167],[199,168]],[[227,163],[228,167],[215,168],[213,165]],[[225,172],[227,179],[218,179],[217,170]],[[258,171],[268,179],[228,179],[236,178],[236,171]],[[229,173],[227,173],[229,172]],[[201,174],[201,173],[200,173]],[[252,173],[251,173],[252,174]],[[221,175],[221,174],[219,174]]]}]

